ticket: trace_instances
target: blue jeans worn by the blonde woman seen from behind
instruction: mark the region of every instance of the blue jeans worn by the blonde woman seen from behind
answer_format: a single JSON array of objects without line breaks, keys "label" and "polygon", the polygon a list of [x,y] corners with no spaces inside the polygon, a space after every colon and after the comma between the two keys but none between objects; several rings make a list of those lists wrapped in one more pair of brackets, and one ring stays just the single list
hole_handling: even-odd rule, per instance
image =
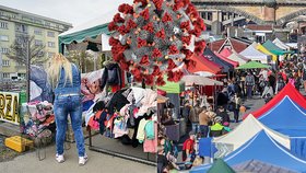
[{"label": "blue jeans worn by the blonde woman seen from behind", "polygon": [[84,157],[85,146],[82,130],[82,100],[80,95],[60,96],[55,99],[54,111],[56,116],[57,134],[56,148],[57,154],[63,154],[63,142],[68,126],[68,114],[74,132],[79,157]]}]

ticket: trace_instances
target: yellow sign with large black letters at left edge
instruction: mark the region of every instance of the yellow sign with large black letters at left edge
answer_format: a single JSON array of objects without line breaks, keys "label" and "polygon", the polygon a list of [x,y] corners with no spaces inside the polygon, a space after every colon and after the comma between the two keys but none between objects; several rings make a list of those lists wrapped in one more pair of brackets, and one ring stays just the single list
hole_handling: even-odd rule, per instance
[{"label": "yellow sign with large black letters at left edge", "polygon": [[20,125],[19,93],[0,91],[0,120]]}]

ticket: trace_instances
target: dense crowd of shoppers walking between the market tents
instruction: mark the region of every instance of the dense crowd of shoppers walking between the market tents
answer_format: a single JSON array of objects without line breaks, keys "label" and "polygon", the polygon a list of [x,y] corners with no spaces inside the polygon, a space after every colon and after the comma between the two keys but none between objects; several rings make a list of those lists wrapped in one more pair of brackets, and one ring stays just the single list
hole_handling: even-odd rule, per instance
[{"label": "dense crowd of shoppers walking between the market tents", "polygon": [[[181,111],[181,116],[190,123],[188,138],[183,142],[183,165],[178,166],[177,153],[165,152],[166,145],[158,142],[158,172],[172,172],[178,169],[191,169],[207,161],[199,157],[199,139],[207,137],[220,137],[229,132],[231,123],[238,123],[239,115],[246,112],[244,101],[255,96],[264,99],[268,103],[287,83],[297,90],[304,86],[306,90],[306,59],[296,56],[286,57],[278,64],[275,69],[250,69],[235,71],[234,78],[224,79],[222,90],[217,91],[215,105],[202,104],[202,101],[188,96]],[[196,94],[197,96],[197,94]],[[192,101],[190,101],[192,100]],[[228,113],[233,112],[233,119]],[[161,159],[163,158],[163,159]],[[163,162],[163,164],[161,164]],[[170,164],[167,164],[170,163]],[[178,168],[178,169],[176,169]]]}]

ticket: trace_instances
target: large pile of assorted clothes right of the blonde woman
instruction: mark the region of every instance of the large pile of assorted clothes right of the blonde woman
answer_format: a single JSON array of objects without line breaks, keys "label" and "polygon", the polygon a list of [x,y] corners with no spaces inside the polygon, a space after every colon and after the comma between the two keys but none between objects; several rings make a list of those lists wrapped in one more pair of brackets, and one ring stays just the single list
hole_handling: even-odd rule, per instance
[{"label": "large pile of assorted clothes right of the blonde woman", "polygon": [[86,113],[86,126],[123,145],[143,143],[144,152],[156,152],[156,91],[128,88],[97,101]]}]

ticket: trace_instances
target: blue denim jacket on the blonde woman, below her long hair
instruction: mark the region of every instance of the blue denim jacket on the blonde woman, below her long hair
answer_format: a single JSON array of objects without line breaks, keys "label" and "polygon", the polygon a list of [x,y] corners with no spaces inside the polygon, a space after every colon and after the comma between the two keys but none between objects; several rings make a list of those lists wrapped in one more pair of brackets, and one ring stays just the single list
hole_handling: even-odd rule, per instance
[{"label": "blue denim jacket on the blonde woman, below her long hair", "polygon": [[72,83],[70,81],[66,81],[64,79],[64,69],[61,68],[60,78],[56,89],[54,90],[55,95],[62,94],[80,94],[81,95],[81,73],[74,64],[72,66]]}]

